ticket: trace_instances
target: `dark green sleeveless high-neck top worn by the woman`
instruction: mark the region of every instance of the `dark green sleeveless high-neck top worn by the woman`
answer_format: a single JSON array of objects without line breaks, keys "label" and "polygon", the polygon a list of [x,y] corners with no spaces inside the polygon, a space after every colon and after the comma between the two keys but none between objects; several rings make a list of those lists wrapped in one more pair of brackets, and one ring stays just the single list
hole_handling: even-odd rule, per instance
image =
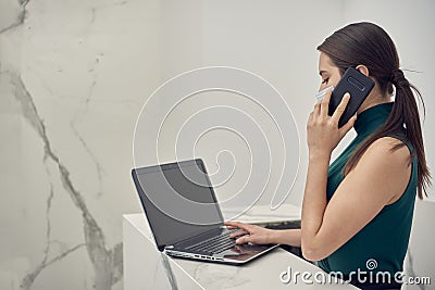
[{"label": "dark green sleeveless high-neck top worn by the woman", "polygon": [[[327,201],[331,200],[344,179],[343,169],[350,153],[386,122],[391,109],[393,103],[383,103],[358,115],[353,126],[357,137],[330,165],[326,186]],[[405,140],[401,137],[391,137]],[[412,147],[409,143],[407,146],[412,152]],[[413,157],[411,177],[403,194],[393,204],[384,206],[365,227],[338,250],[319,261],[321,268],[327,273],[340,272],[344,275],[349,275],[350,272],[357,273],[358,268],[373,273],[389,272],[393,275],[402,270],[412,225],[417,193],[417,157]],[[349,216],[349,218],[352,217]],[[375,263],[372,260],[375,260]],[[371,264],[369,265],[369,263]]]}]

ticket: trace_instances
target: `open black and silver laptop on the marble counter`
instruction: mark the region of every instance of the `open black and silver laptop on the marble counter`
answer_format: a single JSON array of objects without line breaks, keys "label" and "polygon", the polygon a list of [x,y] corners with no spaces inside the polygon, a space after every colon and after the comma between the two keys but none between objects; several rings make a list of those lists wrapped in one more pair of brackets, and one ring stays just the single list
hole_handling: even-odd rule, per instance
[{"label": "open black and silver laptop on the marble counter", "polygon": [[236,244],[200,159],[132,169],[159,251],[240,265],[278,244]]}]

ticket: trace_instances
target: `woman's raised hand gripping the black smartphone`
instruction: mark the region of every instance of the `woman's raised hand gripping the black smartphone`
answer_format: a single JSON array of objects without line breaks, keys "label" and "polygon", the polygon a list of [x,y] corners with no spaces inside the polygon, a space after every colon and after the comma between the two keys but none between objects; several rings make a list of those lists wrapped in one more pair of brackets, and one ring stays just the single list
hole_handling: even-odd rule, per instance
[{"label": "woman's raised hand gripping the black smartphone", "polygon": [[351,117],[341,128],[338,128],[338,121],[341,117],[349,102],[350,94],[345,93],[341,102],[334,114],[327,114],[332,91],[330,90],[325,98],[314,105],[307,123],[307,142],[310,153],[331,155],[331,152],[353,127],[357,116]]}]

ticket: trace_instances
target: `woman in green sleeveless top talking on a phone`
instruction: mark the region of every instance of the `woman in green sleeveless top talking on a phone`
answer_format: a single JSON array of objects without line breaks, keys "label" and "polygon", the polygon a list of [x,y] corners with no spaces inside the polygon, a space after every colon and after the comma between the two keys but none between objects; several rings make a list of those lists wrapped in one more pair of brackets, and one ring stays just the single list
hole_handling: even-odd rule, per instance
[{"label": "woman in green sleeveless top talking on a phone", "polygon": [[[357,116],[338,128],[349,97],[330,116],[331,91],[314,105],[307,124],[309,166],[301,229],[271,230],[241,223],[237,243],[301,247],[307,260],[325,272],[339,272],[365,289],[400,288],[415,193],[430,184],[422,129],[413,89],[399,68],[396,47],[380,26],[350,24],[318,47],[320,90],[336,86],[353,66],[375,81]],[[394,102],[393,93],[395,92]],[[357,137],[330,165],[331,153],[355,127]],[[369,262],[372,264],[369,265]],[[376,265],[377,264],[377,265]],[[391,281],[362,283],[352,272],[388,272]],[[375,277],[375,275],[373,276]]]}]

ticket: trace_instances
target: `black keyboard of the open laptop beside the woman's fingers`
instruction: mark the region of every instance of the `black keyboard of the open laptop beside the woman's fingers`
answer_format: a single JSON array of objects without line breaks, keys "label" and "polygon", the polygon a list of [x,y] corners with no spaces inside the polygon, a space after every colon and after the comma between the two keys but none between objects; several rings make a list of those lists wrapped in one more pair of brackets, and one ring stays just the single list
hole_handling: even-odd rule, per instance
[{"label": "black keyboard of the open laptop beside the woman's fingers", "polygon": [[224,231],[220,236],[187,247],[186,250],[189,252],[204,253],[209,255],[222,253],[223,251],[228,250],[236,244],[236,240],[229,238],[229,235],[237,230],[238,229]]}]

